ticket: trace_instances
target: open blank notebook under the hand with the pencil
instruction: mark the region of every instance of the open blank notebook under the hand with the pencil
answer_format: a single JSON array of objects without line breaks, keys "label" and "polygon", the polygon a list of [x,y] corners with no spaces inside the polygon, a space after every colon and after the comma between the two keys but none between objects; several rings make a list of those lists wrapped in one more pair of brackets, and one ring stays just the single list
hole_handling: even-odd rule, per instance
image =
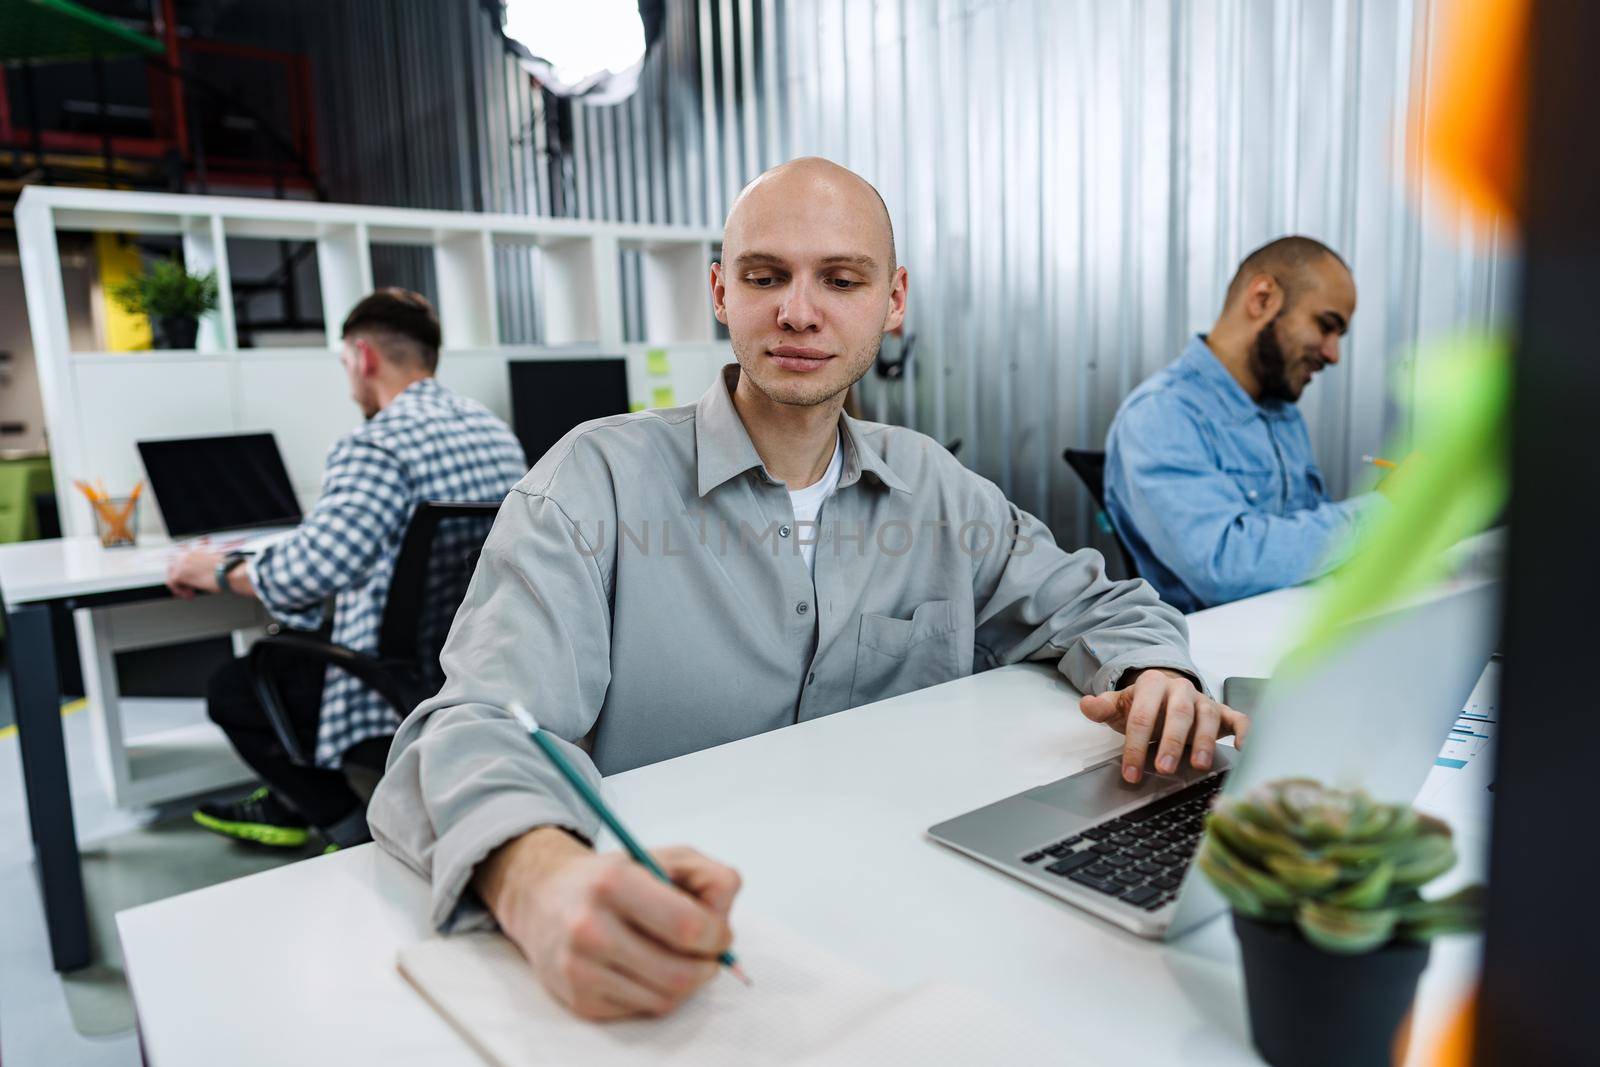
[{"label": "open blank notebook under the hand with the pencil", "polygon": [[664,1019],[586,1022],[498,933],[405,949],[400,971],[496,1067],[534,1064],[1061,1062],[1061,1043],[957,985],[894,990],[781,928],[738,917],[739,963]]}]

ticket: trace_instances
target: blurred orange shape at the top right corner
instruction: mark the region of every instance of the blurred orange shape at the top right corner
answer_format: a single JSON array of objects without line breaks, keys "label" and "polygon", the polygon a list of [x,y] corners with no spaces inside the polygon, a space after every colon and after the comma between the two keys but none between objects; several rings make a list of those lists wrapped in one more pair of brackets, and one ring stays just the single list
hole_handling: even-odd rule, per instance
[{"label": "blurred orange shape at the top right corner", "polygon": [[1530,0],[1458,5],[1438,77],[1411,115],[1411,130],[1424,131],[1427,174],[1448,181],[1485,221],[1522,211],[1531,8]]}]

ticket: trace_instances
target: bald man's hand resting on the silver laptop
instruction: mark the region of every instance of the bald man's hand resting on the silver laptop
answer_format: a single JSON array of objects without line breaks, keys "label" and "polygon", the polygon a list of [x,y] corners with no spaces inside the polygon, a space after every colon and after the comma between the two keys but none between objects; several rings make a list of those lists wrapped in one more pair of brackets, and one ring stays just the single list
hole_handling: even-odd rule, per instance
[{"label": "bald man's hand resting on the silver laptop", "polygon": [[1150,667],[1120,678],[1123,688],[1085,696],[1078,707],[1096,723],[1106,723],[1125,736],[1122,776],[1134,784],[1144,777],[1146,753],[1152,741],[1155,771],[1178,769],[1184,747],[1195,769],[1208,771],[1216,761],[1216,739],[1235,734],[1243,744],[1250,717],[1227,704],[1213,701],[1195,688],[1194,678],[1178,670]]}]

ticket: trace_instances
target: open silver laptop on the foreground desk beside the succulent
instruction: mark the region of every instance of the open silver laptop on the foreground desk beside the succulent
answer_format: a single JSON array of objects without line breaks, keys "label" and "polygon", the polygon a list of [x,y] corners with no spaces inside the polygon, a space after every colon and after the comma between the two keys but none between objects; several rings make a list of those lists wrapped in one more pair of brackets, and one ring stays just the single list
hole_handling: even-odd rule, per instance
[{"label": "open silver laptop on the foreground desk beside the succulent", "polygon": [[1454,589],[1352,625],[1330,656],[1261,693],[1243,750],[1122,781],[1122,753],[928,829],[933,840],[1141,937],[1226,910],[1192,865],[1206,811],[1278,777],[1411,801],[1488,665],[1499,584]]}]

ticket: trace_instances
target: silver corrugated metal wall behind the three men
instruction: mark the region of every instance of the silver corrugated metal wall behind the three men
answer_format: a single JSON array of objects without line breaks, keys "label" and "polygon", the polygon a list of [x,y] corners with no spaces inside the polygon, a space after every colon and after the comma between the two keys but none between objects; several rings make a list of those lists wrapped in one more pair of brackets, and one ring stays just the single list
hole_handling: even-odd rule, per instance
[{"label": "silver corrugated metal wall behind the three men", "polygon": [[[390,74],[346,53],[352,99],[405,90],[419,117],[333,154],[362,184],[373,160],[405,176],[363,200],[694,224],[774,162],[854,168],[894,214],[915,336],[902,381],[862,384],[867,413],[960,438],[1064,539],[1098,534],[1061,450],[1101,445],[1256,245],[1306,232],[1355,269],[1346,360],[1302,402],[1341,494],[1405,434],[1389,382],[1413,381],[1418,338],[1512,298],[1502,238],[1403,181],[1451,0],[667,6],[640,91],[590,107],[533,88],[478,5],[333,5],[320,21],[422,42],[390,45]],[[526,261],[502,261],[504,334],[536,339],[538,262],[501,254]]]}]

